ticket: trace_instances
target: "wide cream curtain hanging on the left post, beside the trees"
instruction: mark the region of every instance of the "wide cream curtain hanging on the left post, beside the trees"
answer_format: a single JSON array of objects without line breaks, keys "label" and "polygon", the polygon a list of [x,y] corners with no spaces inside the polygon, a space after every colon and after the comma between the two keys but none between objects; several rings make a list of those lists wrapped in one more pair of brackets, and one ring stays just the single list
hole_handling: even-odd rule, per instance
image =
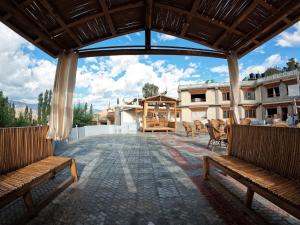
[{"label": "wide cream curtain hanging on the left post, beside the trees", "polygon": [[48,138],[66,139],[73,123],[73,92],[76,82],[78,55],[63,53],[58,57],[55,74]]}]

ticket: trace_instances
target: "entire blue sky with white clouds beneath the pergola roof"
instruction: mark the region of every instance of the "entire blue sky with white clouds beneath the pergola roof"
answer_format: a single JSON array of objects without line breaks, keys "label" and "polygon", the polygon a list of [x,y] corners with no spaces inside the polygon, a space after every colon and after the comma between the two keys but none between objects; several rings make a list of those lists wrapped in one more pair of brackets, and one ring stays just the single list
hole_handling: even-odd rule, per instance
[{"label": "entire blue sky with white clouds beneath the pergola roof", "polygon": [[[110,39],[89,47],[143,45],[144,33]],[[173,36],[152,32],[153,45],[205,48]],[[239,61],[241,79],[251,72],[284,66],[287,59],[300,59],[300,22]],[[10,99],[35,103],[37,95],[53,86],[57,60],[34,47],[0,23],[0,90]],[[224,59],[192,56],[115,56],[80,59],[74,103],[88,102],[105,108],[109,101],[141,97],[142,86],[154,83],[160,92],[177,97],[179,84],[208,79],[228,81]]]}]

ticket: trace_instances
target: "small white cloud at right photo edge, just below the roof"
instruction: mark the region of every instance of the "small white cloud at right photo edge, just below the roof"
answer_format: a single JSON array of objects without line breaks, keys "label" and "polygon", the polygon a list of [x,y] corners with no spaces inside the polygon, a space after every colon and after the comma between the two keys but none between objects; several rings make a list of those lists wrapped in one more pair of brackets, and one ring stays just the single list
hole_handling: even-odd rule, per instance
[{"label": "small white cloud at right photo edge, just below the roof", "polygon": [[294,32],[284,31],[279,35],[276,45],[281,47],[300,46],[300,22],[296,23]]}]

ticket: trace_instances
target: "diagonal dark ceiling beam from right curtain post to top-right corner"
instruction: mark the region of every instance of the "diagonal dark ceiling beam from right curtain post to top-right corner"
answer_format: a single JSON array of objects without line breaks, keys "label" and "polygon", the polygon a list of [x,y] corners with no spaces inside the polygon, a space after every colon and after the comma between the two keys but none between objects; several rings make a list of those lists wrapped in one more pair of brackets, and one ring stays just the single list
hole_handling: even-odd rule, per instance
[{"label": "diagonal dark ceiling beam from right curtain post to top-right corner", "polygon": [[258,25],[258,27],[255,30],[246,35],[233,50],[239,52],[246,44],[257,39],[259,35],[267,32],[278,22],[283,21],[284,18],[286,18],[292,12],[296,11],[299,7],[299,1],[290,1],[286,4],[283,4],[280,8],[277,9],[275,14],[268,17],[268,19],[266,19],[263,23]]}]

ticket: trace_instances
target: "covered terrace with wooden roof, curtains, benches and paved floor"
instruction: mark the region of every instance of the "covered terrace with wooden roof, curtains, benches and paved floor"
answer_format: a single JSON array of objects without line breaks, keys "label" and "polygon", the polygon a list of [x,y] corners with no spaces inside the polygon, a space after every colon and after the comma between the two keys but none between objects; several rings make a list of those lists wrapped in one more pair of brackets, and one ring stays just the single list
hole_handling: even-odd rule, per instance
[{"label": "covered terrace with wooden roof, curtains, benches and paved floor", "polygon": [[[300,129],[243,127],[238,115],[238,59],[299,18],[293,0],[1,1],[1,22],[59,61],[49,129],[0,130],[0,223],[299,224]],[[84,49],[137,31],[143,46]],[[206,48],[152,46],[151,31]],[[205,135],[140,133],[53,151],[71,131],[78,58],[143,54],[227,60],[227,150],[208,151]]]}]

